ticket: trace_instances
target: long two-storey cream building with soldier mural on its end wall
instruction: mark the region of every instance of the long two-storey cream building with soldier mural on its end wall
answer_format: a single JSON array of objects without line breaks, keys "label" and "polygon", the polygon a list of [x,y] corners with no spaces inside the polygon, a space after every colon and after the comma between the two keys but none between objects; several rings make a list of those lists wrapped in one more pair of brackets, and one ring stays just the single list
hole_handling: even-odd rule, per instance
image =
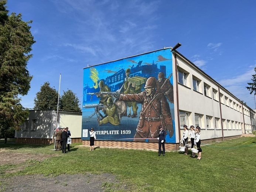
[{"label": "long two-storey cream building with soldier mural on its end wall", "polygon": [[174,144],[184,124],[202,140],[234,137],[252,132],[255,112],[171,48],[83,69],[82,140],[93,127],[97,140],[158,142],[161,125]]}]

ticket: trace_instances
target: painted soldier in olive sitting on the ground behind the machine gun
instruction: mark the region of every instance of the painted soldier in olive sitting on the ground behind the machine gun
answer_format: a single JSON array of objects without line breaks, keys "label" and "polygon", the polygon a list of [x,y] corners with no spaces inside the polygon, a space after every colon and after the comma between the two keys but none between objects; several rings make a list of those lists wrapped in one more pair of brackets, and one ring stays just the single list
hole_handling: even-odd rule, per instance
[{"label": "painted soldier in olive sitting on the ground behind the machine gun", "polygon": [[106,123],[111,123],[112,125],[119,125],[120,119],[117,114],[117,106],[113,102],[112,97],[109,97],[107,99],[107,105],[105,108],[102,109],[102,112],[106,114],[107,116],[103,118],[102,120],[98,119],[99,126]]}]

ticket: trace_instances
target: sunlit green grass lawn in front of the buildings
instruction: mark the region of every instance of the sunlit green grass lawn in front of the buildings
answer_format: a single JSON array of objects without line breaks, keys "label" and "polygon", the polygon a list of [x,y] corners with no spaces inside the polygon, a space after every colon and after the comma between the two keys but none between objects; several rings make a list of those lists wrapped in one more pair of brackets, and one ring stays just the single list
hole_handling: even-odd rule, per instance
[{"label": "sunlit green grass lawn in front of the buildings", "polygon": [[[81,143],[72,144],[68,154],[51,150],[53,145],[7,143],[0,144],[0,149],[59,156],[2,165],[0,176],[107,172],[116,175],[134,191],[256,191],[255,142],[255,137],[241,137],[202,145],[202,160],[184,155],[184,152],[165,152],[165,157],[158,157],[158,152],[147,150],[97,148],[89,151],[89,147],[79,147]],[[59,166],[60,161],[68,164],[69,169],[64,171]],[[23,170],[5,173],[21,165]],[[105,182],[102,185],[109,188],[113,184]]]}]

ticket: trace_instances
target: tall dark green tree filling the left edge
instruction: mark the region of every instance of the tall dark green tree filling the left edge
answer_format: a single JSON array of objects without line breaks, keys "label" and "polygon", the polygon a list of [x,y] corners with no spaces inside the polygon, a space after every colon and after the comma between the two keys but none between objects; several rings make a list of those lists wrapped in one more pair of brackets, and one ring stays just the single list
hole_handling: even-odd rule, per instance
[{"label": "tall dark green tree filling the left edge", "polygon": [[20,129],[28,111],[18,95],[27,95],[32,76],[27,70],[29,52],[35,43],[30,32],[32,21],[6,9],[7,0],[0,0],[0,131],[7,141],[8,129]]}]

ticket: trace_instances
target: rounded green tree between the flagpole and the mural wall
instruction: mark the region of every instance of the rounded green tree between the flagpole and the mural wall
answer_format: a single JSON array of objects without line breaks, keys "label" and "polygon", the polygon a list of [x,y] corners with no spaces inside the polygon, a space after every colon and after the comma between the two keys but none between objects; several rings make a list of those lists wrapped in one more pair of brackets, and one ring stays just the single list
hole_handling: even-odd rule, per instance
[{"label": "rounded green tree between the flagpole and the mural wall", "polygon": [[63,91],[61,96],[60,109],[64,111],[81,112],[79,99],[72,90]]}]

